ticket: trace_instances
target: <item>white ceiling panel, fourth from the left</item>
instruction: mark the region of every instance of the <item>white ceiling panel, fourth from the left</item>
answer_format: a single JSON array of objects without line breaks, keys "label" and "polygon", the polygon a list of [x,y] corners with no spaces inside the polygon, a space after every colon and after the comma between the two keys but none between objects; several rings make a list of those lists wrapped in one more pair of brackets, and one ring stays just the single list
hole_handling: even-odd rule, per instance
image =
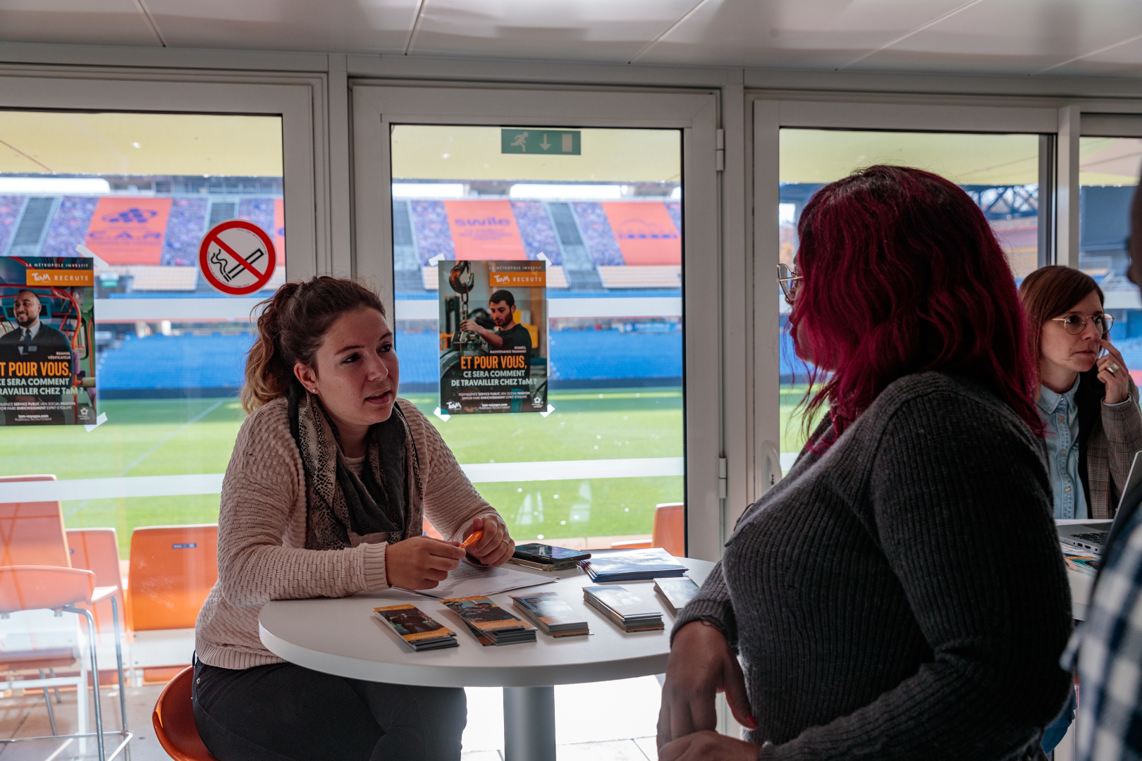
[{"label": "white ceiling panel, fourth from the left", "polygon": [[640,63],[837,68],[964,0],[707,0]]}]

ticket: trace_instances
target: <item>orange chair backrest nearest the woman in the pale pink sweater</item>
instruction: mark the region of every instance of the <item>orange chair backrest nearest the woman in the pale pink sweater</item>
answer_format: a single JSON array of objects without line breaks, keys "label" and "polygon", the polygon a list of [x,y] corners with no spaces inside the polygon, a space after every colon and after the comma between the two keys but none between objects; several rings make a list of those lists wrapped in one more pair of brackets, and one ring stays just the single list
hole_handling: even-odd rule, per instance
[{"label": "orange chair backrest nearest the woman in the pale pink sweater", "polygon": [[130,629],[193,629],[216,581],[217,524],[136,528],[127,575]]}]

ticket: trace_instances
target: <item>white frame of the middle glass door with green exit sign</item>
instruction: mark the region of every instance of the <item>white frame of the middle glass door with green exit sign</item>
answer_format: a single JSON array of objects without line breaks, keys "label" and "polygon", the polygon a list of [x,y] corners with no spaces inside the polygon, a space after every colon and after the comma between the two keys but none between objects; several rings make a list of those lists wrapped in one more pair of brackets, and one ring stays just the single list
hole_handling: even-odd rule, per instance
[{"label": "white frame of the middle glass door with green exit sign", "polygon": [[[683,132],[683,307],[687,554],[721,556],[721,249],[716,91],[352,82],[355,273],[389,308],[392,124],[675,128]],[[395,314],[392,311],[391,314]]]}]

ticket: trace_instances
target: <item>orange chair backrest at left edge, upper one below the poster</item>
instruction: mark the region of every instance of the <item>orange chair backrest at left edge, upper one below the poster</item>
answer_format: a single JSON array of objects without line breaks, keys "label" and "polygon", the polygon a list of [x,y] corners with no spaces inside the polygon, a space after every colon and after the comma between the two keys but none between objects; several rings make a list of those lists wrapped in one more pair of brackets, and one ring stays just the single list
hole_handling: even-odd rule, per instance
[{"label": "orange chair backrest at left edge, upper one below the poster", "polygon": [[[0,484],[55,480],[55,476],[0,476]],[[0,502],[0,566],[71,567],[58,501]]]}]

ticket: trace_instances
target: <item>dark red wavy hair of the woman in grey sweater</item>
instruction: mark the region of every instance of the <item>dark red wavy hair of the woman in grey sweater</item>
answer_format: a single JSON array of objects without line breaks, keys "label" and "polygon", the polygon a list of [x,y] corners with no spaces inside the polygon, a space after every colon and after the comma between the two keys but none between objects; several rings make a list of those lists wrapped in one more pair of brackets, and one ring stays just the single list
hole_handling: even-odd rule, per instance
[{"label": "dark red wavy hair of the woman in grey sweater", "polygon": [[919,169],[869,167],[818,191],[797,234],[789,326],[798,355],[831,371],[806,410],[806,420],[826,402],[831,412],[817,451],[891,382],[927,370],[990,387],[1042,435],[1015,281],[966,193]]}]

